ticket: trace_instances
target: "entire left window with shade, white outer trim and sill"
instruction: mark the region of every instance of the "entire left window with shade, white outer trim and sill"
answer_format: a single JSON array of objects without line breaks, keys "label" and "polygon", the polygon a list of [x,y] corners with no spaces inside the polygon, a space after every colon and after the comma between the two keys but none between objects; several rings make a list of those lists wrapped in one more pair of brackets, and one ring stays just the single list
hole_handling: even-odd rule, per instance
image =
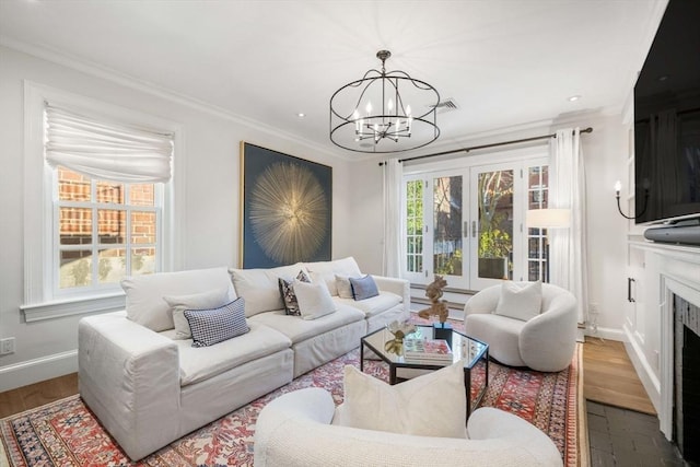
[{"label": "entire left window with shade, white outer trim and sill", "polygon": [[120,280],[173,270],[179,126],[25,82],[25,320],[121,310]]}]

